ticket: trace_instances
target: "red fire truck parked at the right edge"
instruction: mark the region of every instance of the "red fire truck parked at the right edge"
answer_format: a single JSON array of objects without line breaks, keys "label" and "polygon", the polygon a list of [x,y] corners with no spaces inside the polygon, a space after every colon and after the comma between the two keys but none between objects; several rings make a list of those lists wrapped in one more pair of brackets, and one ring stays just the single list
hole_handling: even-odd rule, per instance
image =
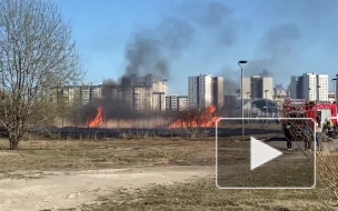
[{"label": "red fire truck parked at the right edge", "polygon": [[[281,108],[282,118],[311,118],[316,121],[317,117],[320,118],[321,123],[326,120],[331,120],[335,125],[337,125],[337,104],[329,102],[314,102],[300,99],[286,99]],[[308,131],[314,134],[314,121],[305,120],[282,120],[282,130],[286,124],[291,125],[292,134],[298,139],[305,138],[305,129],[310,129]]]}]

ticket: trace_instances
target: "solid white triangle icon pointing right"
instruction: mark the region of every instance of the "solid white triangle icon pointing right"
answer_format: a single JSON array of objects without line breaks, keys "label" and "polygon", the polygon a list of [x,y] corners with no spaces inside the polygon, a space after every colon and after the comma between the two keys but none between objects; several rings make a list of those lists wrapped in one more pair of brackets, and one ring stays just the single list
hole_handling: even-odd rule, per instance
[{"label": "solid white triangle icon pointing right", "polygon": [[250,170],[254,170],[264,163],[282,154],[281,151],[250,137]]}]

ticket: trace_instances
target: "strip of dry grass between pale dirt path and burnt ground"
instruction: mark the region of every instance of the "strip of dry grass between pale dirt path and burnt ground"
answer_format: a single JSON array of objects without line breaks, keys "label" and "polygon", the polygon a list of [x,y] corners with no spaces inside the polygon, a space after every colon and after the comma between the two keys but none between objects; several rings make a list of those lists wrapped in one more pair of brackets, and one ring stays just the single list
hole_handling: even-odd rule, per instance
[{"label": "strip of dry grass between pale dirt path and burnt ground", "polygon": [[[220,140],[231,142],[231,140],[240,139],[241,137],[231,137]],[[8,140],[0,140],[2,171],[86,170],[132,165],[213,165],[216,162],[215,138],[22,141],[19,147],[18,151],[10,151]]]}]

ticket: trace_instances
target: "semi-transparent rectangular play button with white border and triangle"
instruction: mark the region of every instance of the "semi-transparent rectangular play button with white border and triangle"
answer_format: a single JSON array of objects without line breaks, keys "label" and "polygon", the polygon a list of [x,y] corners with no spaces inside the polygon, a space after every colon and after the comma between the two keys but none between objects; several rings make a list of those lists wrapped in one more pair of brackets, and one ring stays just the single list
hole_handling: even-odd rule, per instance
[{"label": "semi-transparent rectangular play button with white border and triangle", "polygon": [[[216,185],[220,189],[312,189],[316,154],[304,151],[304,143],[312,141],[311,135],[292,141],[292,151],[284,151],[289,147],[280,125],[284,120],[268,118],[265,124],[262,120],[246,119],[248,123],[242,124],[238,118],[223,118],[217,124]],[[309,123],[305,118],[295,121],[299,125]],[[236,138],[236,134],[245,135]]]}]

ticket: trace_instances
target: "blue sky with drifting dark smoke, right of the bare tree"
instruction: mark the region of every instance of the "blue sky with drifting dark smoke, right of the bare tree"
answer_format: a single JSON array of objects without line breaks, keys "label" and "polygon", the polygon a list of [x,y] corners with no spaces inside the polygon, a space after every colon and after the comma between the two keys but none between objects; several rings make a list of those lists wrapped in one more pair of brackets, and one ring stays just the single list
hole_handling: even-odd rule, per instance
[{"label": "blue sky with drifting dark smoke, right of the bare tree", "polygon": [[[169,80],[187,94],[188,77],[226,79],[226,92],[264,69],[287,87],[291,76],[337,73],[336,0],[56,0],[87,71],[84,82],[128,73]],[[332,84],[330,82],[330,88]]]}]

